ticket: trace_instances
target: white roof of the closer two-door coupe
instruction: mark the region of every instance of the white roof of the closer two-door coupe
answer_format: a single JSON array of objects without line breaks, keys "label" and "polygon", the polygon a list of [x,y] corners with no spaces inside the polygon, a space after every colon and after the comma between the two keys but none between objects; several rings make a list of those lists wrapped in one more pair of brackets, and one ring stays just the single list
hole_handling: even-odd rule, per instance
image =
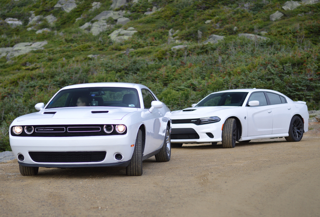
[{"label": "white roof of the closer two-door coupe", "polygon": [[[84,83],[84,84],[74,84],[70,86],[65,86],[62,89],[73,89],[73,88],[82,88],[82,87],[131,87],[136,89],[147,88],[142,84],[135,83],[121,83],[121,82],[101,82],[101,83]],[[61,89],[61,90],[62,90]]]}]

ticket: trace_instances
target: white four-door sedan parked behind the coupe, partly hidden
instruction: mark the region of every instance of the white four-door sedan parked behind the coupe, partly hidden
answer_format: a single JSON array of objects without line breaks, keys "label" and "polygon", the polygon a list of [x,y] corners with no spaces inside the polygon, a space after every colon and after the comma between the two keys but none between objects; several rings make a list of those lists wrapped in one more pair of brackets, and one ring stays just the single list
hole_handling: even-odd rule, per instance
[{"label": "white four-door sedan parked behind the coupe, partly hidden", "polygon": [[172,147],[183,143],[235,142],[285,137],[298,142],[308,131],[305,102],[292,101],[268,89],[235,89],[214,92],[197,104],[172,112]]}]

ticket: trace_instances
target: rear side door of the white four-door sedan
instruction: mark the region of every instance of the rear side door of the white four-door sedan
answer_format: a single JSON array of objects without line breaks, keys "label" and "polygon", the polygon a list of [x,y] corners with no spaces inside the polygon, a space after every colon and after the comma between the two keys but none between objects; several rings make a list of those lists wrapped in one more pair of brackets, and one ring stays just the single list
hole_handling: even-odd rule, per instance
[{"label": "rear side door of the white four-door sedan", "polygon": [[291,121],[291,106],[288,105],[283,96],[272,92],[266,92],[266,94],[273,118],[272,134],[288,133]]}]

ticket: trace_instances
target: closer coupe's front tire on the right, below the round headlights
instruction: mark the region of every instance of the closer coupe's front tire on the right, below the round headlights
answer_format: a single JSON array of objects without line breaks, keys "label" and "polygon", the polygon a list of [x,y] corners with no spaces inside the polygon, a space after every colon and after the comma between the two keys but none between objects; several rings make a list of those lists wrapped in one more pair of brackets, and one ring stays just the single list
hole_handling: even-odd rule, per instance
[{"label": "closer coupe's front tire on the right, below the round headlights", "polygon": [[132,158],[126,168],[126,174],[129,176],[142,175],[142,131],[140,129],[135,140]]}]

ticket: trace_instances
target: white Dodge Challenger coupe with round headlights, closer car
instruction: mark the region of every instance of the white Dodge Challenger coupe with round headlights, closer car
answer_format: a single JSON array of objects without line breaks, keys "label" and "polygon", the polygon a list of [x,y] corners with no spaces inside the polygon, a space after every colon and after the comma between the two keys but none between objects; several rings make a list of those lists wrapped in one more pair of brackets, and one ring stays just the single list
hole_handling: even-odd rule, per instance
[{"label": "white Dodge Challenger coupe with round headlights, closer car", "polygon": [[170,160],[171,112],[141,84],[66,86],[35,108],[10,126],[22,175],[36,175],[39,167],[125,166],[137,176],[151,156]]}]

